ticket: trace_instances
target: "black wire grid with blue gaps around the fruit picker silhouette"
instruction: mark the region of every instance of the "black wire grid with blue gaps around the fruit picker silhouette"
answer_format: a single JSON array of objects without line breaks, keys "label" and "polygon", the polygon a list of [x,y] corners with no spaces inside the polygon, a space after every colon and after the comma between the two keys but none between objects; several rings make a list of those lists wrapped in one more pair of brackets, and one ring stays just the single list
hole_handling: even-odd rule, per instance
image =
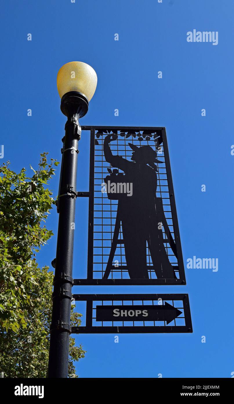
[{"label": "black wire grid with blue gaps around the fruit picker silhouette", "polygon": [[[96,138],[97,138],[96,131]],[[117,132],[118,135],[120,131]],[[139,132],[142,137],[143,130]],[[155,134],[156,139],[153,137],[149,137],[150,140],[141,140],[137,136],[128,135],[128,138],[124,138],[118,136],[116,141],[111,143],[111,149],[113,154],[118,156],[122,156],[127,160],[130,160],[132,155],[132,150],[130,149],[128,142],[133,143],[137,146],[149,145],[155,151],[157,151],[158,157],[162,160],[162,164],[157,163],[157,192],[156,196],[158,198],[162,198],[164,213],[166,216],[166,220],[171,231],[172,237],[174,238],[174,227],[172,222],[172,212],[170,206],[170,197],[168,191],[168,181],[167,181],[167,173],[166,173],[166,164],[164,158],[164,146],[161,144],[158,146],[157,141],[157,133]],[[94,248],[93,248],[93,277],[100,279],[103,278],[104,271],[106,269],[106,265],[108,262],[108,257],[110,254],[111,242],[113,239],[114,233],[114,224],[116,220],[116,211],[118,206],[117,200],[109,200],[107,194],[101,192],[102,184],[104,183],[104,178],[108,175],[108,168],[111,168],[110,163],[106,162],[103,152],[103,143],[105,134],[102,136],[98,136],[98,140],[95,141],[95,165],[94,165],[94,227],[93,227],[93,240],[94,240]],[[122,170],[118,169],[119,173],[124,173]],[[166,240],[166,234],[164,231],[164,227],[162,226],[163,237]],[[122,225],[120,226],[120,234],[118,237],[119,240],[123,240],[122,235]],[[169,258],[170,263],[172,265],[177,266],[178,261],[173,254],[170,245],[165,241],[164,246],[166,248],[166,252]],[[118,264],[119,263],[119,264]],[[118,266],[117,266],[118,265]],[[153,264],[149,252],[149,248],[147,246],[147,266],[149,278],[157,278],[155,275],[155,271],[153,270]],[[114,255],[113,266],[111,269],[110,277],[112,279],[129,279],[128,270],[126,268],[126,259],[124,252],[124,244],[119,244],[116,248],[116,253]],[[178,270],[175,271],[178,274]],[[177,275],[177,278],[179,276]]]}]

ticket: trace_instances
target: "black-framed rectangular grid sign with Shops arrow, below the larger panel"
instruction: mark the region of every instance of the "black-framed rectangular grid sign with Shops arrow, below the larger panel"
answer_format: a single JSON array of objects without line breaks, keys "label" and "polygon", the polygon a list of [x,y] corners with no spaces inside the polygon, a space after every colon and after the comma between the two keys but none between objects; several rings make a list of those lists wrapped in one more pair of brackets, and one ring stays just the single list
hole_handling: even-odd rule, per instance
[{"label": "black-framed rectangular grid sign with Shops arrow, below the larger panel", "polygon": [[[75,333],[193,332],[188,295],[73,295],[86,301]],[[81,312],[79,303],[77,309]]]}]

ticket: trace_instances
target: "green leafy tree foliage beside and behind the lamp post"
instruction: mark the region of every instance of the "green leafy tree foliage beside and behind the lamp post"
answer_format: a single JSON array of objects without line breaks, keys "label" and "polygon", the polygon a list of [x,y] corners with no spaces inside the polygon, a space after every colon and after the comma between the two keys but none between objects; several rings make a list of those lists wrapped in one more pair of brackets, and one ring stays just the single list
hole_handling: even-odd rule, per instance
[{"label": "green leafy tree foliage beside and behind the lamp post", "polygon": [[[36,253],[53,235],[46,229],[52,192],[45,187],[54,175],[56,160],[41,154],[32,177],[9,164],[0,167],[0,372],[4,377],[46,377],[52,313],[53,272],[40,269]],[[73,310],[72,326],[81,314]],[[84,357],[81,345],[70,338],[69,377],[77,377],[74,361]]]}]

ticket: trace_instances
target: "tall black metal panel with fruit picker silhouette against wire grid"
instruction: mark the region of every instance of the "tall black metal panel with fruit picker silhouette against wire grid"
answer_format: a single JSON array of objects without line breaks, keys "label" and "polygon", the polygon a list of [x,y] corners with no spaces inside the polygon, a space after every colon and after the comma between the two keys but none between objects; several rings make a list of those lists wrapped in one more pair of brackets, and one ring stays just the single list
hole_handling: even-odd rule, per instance
[{"label": "tall black metal panel with fruit picker silhouette against wire grid", "polygon": [[91,133],[87,279],[186,284],[165,128],[83,126]]}]

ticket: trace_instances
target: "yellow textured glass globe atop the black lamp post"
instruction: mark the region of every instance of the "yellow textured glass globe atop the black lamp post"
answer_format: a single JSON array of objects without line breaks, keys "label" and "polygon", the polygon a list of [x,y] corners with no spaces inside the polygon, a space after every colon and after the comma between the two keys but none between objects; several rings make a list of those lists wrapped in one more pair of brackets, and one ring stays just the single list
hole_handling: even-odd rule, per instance
[{"label": "yellow textured glass globe atop the black lamp post", "polygon": [[57,87],[60,98],[68,91],[79,91],[90,101],[97,87],[97,74],[86,63],[69,62],[58,71]]}]

